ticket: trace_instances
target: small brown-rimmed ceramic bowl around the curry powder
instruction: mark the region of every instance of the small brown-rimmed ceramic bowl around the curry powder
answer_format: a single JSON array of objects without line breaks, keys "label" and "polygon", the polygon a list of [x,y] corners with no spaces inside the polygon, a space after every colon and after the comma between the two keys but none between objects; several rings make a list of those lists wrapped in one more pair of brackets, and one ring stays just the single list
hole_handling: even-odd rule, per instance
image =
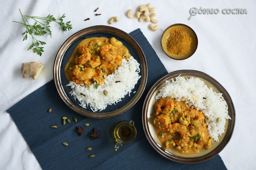
[{"label": "small brown-rimmed ceramic bowl around the curry powder", "polygon": [[[167,39],[169,37],[170,30],[173,29],[173,28],[180,28],[180,29],[185,30],[190,35],[190,37],[193,39],[190,50],[187,54],[184,54],[184,55],[171,54],[167,50],[166,42],[167,42]],[[197,35],[196,35],[195,31],[192,28],[190,28],[187,25],[182,24],[182,23],[176,23],[176,24],[173,24],[173,25],[169,26],[163,32],[162,37],[161,37],[161,47],[162,47],[163,52],[165,52],[165,54],[168,57],[170,57],[174,60],[185,60],[185,59],[189,58],[191,55],[193,55],[196,52],[197,45],[198,45],[198,39],[197,39]]]}]

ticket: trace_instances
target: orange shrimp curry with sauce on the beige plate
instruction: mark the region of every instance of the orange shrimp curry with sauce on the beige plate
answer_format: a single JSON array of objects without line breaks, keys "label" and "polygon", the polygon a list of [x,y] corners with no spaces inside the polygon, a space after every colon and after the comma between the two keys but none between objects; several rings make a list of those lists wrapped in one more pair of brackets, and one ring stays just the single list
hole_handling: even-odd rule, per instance
[{"label": "orange shrimp curry with sauce on the beige plate", "polygon": [[199,153],[211,148],[212,137],[202,112],[172,98],[161,98],[155,104],[154,129],[161,143],[180,154]]}]

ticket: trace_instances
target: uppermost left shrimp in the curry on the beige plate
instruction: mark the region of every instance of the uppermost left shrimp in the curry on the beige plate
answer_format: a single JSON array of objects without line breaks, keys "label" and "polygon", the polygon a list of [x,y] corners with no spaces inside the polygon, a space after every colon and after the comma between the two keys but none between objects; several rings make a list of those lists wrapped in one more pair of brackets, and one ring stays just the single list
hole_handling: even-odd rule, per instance
[{"label": "uppermost left shrimp in the curry on the beige plate", "polygon": [[174,108],[174,103],[172,99],[167,99],[167,98],[161,98],[158,100],[155,104],[155,116],[159,115],[161,113],[171,113]]}]

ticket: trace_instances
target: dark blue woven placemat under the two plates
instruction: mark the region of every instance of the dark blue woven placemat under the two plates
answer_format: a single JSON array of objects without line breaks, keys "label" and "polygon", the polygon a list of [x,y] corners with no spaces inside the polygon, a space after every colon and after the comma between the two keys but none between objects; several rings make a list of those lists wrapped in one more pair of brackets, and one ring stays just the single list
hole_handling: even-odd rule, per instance
[{"label": "dark blue woven placemat under the two plates", "polygon": [[[226,169],[219,155],[198,164],[175,163],[159,155],[148,143],[142,128],[142,104],[147,91],[167,70],[146,37],[137,29],[130,35],[145,53],[148,80],[140,100],[126,113],[109,119],[87,118],[72,111],[60,99],[53,81],[32,92],[7,110],[42,169]],[[52,112],[48,113],[48,109]],[[71,123],[62,124],[62,117]],[[72,117],[77,118],[77,122]],[[114,151],[112,130],[116,123],[133,120],[137,128],[136,139]],[[83,123],[89,123],[84,126]],[[58,128],[50,128],[57,125]],[[76,126],[84,127],[79,136]],[[91,139],[87,134],[95,128],[102,138]],[[69,145],[64,146],[62,142]],[[86,148],[91,147],[91,151]],[[89,155],[96,155],[94,158]]]}]

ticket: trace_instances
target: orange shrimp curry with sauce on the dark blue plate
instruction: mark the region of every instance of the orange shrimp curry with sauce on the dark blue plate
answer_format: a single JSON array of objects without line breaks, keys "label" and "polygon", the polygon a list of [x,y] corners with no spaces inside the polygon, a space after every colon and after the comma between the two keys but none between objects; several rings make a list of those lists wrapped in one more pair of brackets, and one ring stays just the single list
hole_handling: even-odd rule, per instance
[{"label": "orange shrimp curry with sauce on the dark blue plate", "polygon": [[104,76],[112,74],[130,57],[128,49],[116,38],[92,37],[81,41],[65,66],[69,81],[90,85],[104,83]]}]

